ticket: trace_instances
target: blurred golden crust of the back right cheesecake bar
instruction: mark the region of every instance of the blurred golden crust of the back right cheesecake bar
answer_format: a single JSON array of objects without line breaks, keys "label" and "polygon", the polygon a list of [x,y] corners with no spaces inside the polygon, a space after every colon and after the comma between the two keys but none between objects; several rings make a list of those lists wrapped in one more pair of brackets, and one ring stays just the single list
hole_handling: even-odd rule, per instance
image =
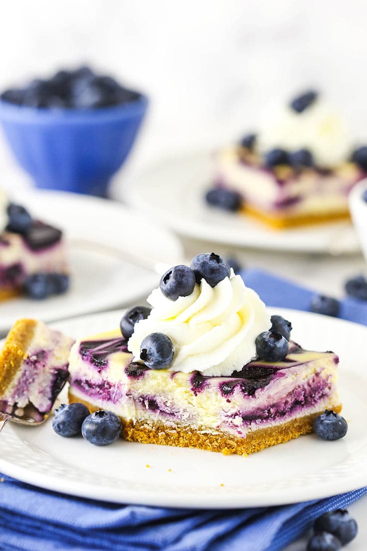
[{"label": "blurred golden crust of the back right cheesecake bar", "polygon": [[291,215],[291,216],[272,216],[265,214],[260,210],[249,207],[246,204],[241,208],[241,212],[260,220],[274,230],[283,230],[286,228],[297,228],[298,226],[307,226],[313,224],[323,224],[326,222],[337,222],[338,220],[350,220],[350,215],[346,209],[344,212],[324,213],[324,214],[308,214],[308,215]]}]

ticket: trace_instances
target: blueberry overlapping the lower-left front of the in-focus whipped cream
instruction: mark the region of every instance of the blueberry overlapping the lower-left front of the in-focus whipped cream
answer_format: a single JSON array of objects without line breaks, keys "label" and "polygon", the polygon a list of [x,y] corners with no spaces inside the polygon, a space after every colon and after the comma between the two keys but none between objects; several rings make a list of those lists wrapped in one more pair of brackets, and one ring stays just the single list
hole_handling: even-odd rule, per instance
[{"label": "blueberry overlapping the lower-left front of the in-focus whipped cream", "polygon": [[173,361],[173,343],[163,333],[151,333],[140,345],[140,359],[151,369],[166,369]]}]

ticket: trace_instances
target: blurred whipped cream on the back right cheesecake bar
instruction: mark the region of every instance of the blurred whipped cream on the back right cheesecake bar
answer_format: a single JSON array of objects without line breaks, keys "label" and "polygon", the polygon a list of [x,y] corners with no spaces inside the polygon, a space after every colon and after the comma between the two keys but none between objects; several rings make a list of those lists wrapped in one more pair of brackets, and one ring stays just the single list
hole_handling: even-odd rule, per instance
[{"label": "blurred whipped cream on the back right cheesecake bar", "polygon": [[308,149],[317,166],[333,167],[347,161],[353,142],[343,118],[317,98],[301,113],[289,105],[267,114],[259,133],[260,152],[281,147],[287,151]]}]

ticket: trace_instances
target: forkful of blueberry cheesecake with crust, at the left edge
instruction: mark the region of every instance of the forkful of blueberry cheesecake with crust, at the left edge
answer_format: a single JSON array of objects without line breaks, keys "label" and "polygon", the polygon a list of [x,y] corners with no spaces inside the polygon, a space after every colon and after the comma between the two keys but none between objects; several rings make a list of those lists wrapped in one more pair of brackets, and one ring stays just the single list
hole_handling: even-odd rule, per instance
[{"label": "forkful of blueberry cheesecake with crust, at the left edge", "polygon": [[42,420],[68,379],[73,343],[40,321],[18,320],[0,352],[0,412]]}]

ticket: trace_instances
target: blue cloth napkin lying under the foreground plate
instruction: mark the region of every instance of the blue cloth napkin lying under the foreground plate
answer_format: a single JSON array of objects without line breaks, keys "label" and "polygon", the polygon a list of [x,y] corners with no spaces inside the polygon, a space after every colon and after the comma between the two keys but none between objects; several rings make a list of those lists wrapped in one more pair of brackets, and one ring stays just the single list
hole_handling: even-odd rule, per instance
[{"label": "blue cloth napkin lying under the foreground plate", "polygon": [[[242,276],[266,304],[309,309],[313,291],[259,270]],[[341,317],[367,325],[367,306],[342,301]],[[0,549],[281,551],[323,512],[347,507],[365,493],[367,488],[324,500],[254,509],[165,509],[74,498],[3,476]]]}]

